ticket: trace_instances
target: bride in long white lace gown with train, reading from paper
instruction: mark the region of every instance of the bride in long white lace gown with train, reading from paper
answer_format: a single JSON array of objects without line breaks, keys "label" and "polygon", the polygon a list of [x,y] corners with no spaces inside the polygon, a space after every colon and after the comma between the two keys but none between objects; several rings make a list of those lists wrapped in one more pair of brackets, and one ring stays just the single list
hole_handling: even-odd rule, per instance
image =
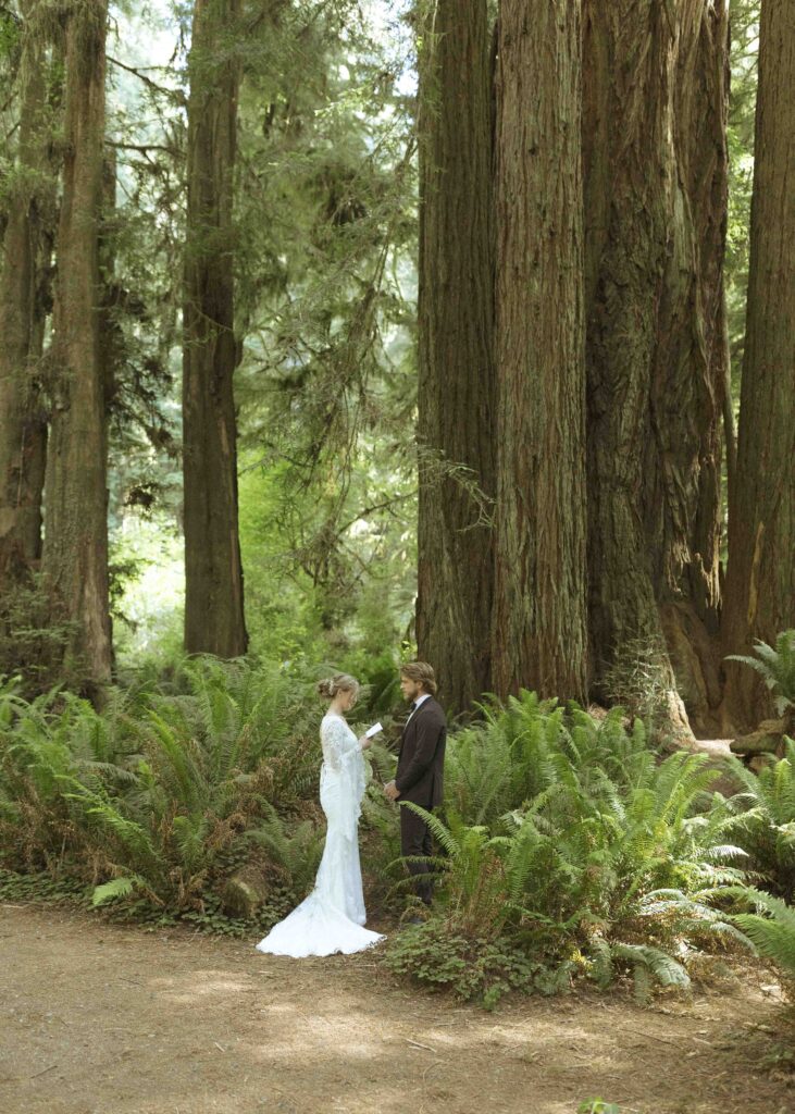
[{"label": "bride in long white lace gown with train, reading from paper", "polygon": [[367,783],[363,751],[372,740],[356,739],[345,722],[359,696],[359,682],[346,673],[321,681],[317,692],[330,701],[321,722],[323,766],[321,804],[326,814],[326,844],[315,888],[288,917],[257,944],[275,956],[349,955],[383,940],[364,928],[366,919],[359,864],[357,825]]}]

